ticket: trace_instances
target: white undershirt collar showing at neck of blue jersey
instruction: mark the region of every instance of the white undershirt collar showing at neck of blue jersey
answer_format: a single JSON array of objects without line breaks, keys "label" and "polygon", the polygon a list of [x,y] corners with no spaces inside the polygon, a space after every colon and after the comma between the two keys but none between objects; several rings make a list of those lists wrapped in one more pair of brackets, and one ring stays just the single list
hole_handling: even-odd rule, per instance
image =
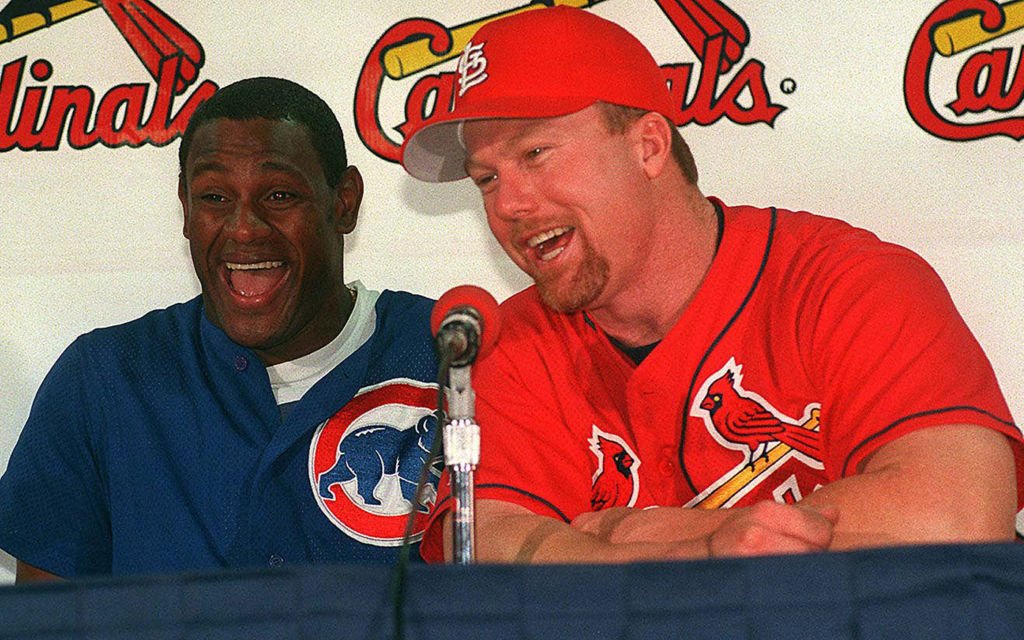
[{"label": "white undershirt collar showing at neck of blue jersey", "polygon": [[368,290],[359,281],[351,283],[349,288],[355,291],[355,304],[348,322],[334,340],[312,353],[266,368],[273,398],[279,406],[298,401],[324,376],[374,335],[380,292]]}]

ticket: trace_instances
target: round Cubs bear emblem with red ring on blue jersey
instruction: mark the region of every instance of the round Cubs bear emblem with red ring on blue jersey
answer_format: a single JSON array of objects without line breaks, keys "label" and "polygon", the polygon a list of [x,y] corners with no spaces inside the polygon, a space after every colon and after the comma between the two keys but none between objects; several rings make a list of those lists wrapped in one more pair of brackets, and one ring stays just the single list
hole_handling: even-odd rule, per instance
[{"label": "round Cubs bear emblem with red ring on blue jersey", "polygon": [[324,515],[346,535],[396,547],[415,508],[413,540],[422,538],[440,477],[440,461],[432,461],[430,482],[414,505],[437,432],[436,396],[436,385],[413,380],[368,387],[313,434],[310,487]]}]

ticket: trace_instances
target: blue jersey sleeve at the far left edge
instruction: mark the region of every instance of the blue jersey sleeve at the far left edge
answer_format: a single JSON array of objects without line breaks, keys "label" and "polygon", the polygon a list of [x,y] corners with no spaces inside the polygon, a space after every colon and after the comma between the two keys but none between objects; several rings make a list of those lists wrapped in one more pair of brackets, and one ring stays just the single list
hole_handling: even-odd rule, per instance
[{"label": "blue jersey sleeve at the far left edge", "polygon": [[63,578],[111,571],[111,527],[81,339],[47,374],[0,478],[0,547]]}]

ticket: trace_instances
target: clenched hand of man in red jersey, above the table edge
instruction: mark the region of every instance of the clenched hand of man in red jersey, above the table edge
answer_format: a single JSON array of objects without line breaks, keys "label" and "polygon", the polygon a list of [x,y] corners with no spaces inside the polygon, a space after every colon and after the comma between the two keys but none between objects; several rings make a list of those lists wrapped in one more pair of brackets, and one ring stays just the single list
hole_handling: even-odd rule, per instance
[{"label": "clenched hand of man in red jersey, above the table edge", "polygon": [[839,520],[835,507],[811,508],[761,502],[730,510],[708,537],[712,557],[754,556],[824,551]]}]

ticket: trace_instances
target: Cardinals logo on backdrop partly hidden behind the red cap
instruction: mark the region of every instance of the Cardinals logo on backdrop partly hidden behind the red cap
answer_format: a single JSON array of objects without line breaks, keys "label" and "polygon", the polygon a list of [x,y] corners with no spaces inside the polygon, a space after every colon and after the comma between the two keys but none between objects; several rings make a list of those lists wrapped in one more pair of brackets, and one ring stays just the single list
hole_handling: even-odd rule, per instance
[{"label": "Cardinals logo on backdrop partly hidden behind the red cap", "polygon": [[[543,10],[549,5],[589,8],[603,1],[606,0],[537,0],[452,28],[424,18],[397,23],[378,39],[359,73],[355,92],[355,127],[359,138],[380,158],[399,162],[401,141],[392,139],[389,131],[393,128],[403,137],[412,128],[443,115],[458,91],[458,72],[421,74],[459,57],[480,27],[511,13]],[[772,101],[764,65],[757,59],[743,62],[751,38],[742,18],[720,0],[654,1],[700,60],[698,70],[692,62],[662,66],[678,109],[675,123],[711,125],[725,118],[742,125],[773,125],[785,108]],[[580,55],[600,54],[600,51],[580,52]],[[381,95],[386,83],[406,82],[418,75],[406,95],[404,121],[386,126],[383,123],[386,118],[381,114]]]}]

